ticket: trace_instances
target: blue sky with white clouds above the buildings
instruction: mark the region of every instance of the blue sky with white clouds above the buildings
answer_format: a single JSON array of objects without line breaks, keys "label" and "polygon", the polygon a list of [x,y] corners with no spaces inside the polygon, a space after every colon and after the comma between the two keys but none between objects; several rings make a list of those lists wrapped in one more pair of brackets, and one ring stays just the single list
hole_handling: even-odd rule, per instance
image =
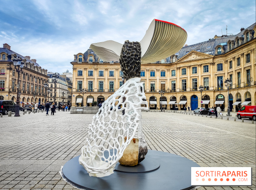
[{"label": "blue sky with white clouds above the buildings", "polygon": [[186,44],[237,34],[255,23],[255,0],[0,0],[0,44],[65,72],[91,43],[141,41],[151,21],[187,31]]}]

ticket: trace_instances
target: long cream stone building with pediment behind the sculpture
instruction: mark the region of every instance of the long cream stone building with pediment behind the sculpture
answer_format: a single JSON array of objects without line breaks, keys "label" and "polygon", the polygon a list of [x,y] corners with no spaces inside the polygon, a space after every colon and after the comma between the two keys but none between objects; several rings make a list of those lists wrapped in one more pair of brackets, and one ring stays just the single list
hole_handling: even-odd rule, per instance
[{"label": "long cream stone building with pediment behind the sculpture", "polygon": [[[149,108],[181,110],[189,106],[194,110],[220,105],[226,111],[229,104],[231,111],[237,111],[242,105],[255,105],[255,31],[254,23],[236,35],[185,45],[164,60],[142,64],[141,81]],[[71,64],[73,106],[82,105],[82,97],[84,106],[93,101],[98,104],[123,84],[119,62],[105,62],[91,49],[75,54]],[[227,78],[232,79],[229,94]],[[203,86],[202,96],[199,86]],[[82,88],[87,89],[84,95],[80,94]],[[159,90],[165,91],[162,97]]]}]

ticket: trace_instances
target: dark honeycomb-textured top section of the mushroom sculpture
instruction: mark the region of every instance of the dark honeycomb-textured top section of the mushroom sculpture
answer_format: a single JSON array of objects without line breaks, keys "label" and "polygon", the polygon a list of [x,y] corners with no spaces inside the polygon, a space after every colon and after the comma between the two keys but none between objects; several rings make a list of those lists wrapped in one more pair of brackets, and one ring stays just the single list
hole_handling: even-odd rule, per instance
[{"label": "dark honeycomb-textured top section of the mushroom sculpture", "polygon": [[119,59],[124,79],[129,80],[134,77],[140,77],[140,59],[140,43],[126,40],[123,44]]}]

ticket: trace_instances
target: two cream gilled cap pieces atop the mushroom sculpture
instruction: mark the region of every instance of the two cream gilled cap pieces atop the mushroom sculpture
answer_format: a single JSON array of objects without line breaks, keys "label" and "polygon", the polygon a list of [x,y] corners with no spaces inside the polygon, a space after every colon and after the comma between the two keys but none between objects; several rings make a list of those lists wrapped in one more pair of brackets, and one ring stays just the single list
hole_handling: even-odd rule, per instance
[{"label": "two cream gilled cap pieces atop the mushroom sculpture", "polygon": [[[145,36],[140,41],[141,62],[160,61],[178,52],[187,40],[187,32],[162,20],[153,19]],[[92,43],[91,49],[104,61],[119,61],[123,44],[115,41]]]}]

